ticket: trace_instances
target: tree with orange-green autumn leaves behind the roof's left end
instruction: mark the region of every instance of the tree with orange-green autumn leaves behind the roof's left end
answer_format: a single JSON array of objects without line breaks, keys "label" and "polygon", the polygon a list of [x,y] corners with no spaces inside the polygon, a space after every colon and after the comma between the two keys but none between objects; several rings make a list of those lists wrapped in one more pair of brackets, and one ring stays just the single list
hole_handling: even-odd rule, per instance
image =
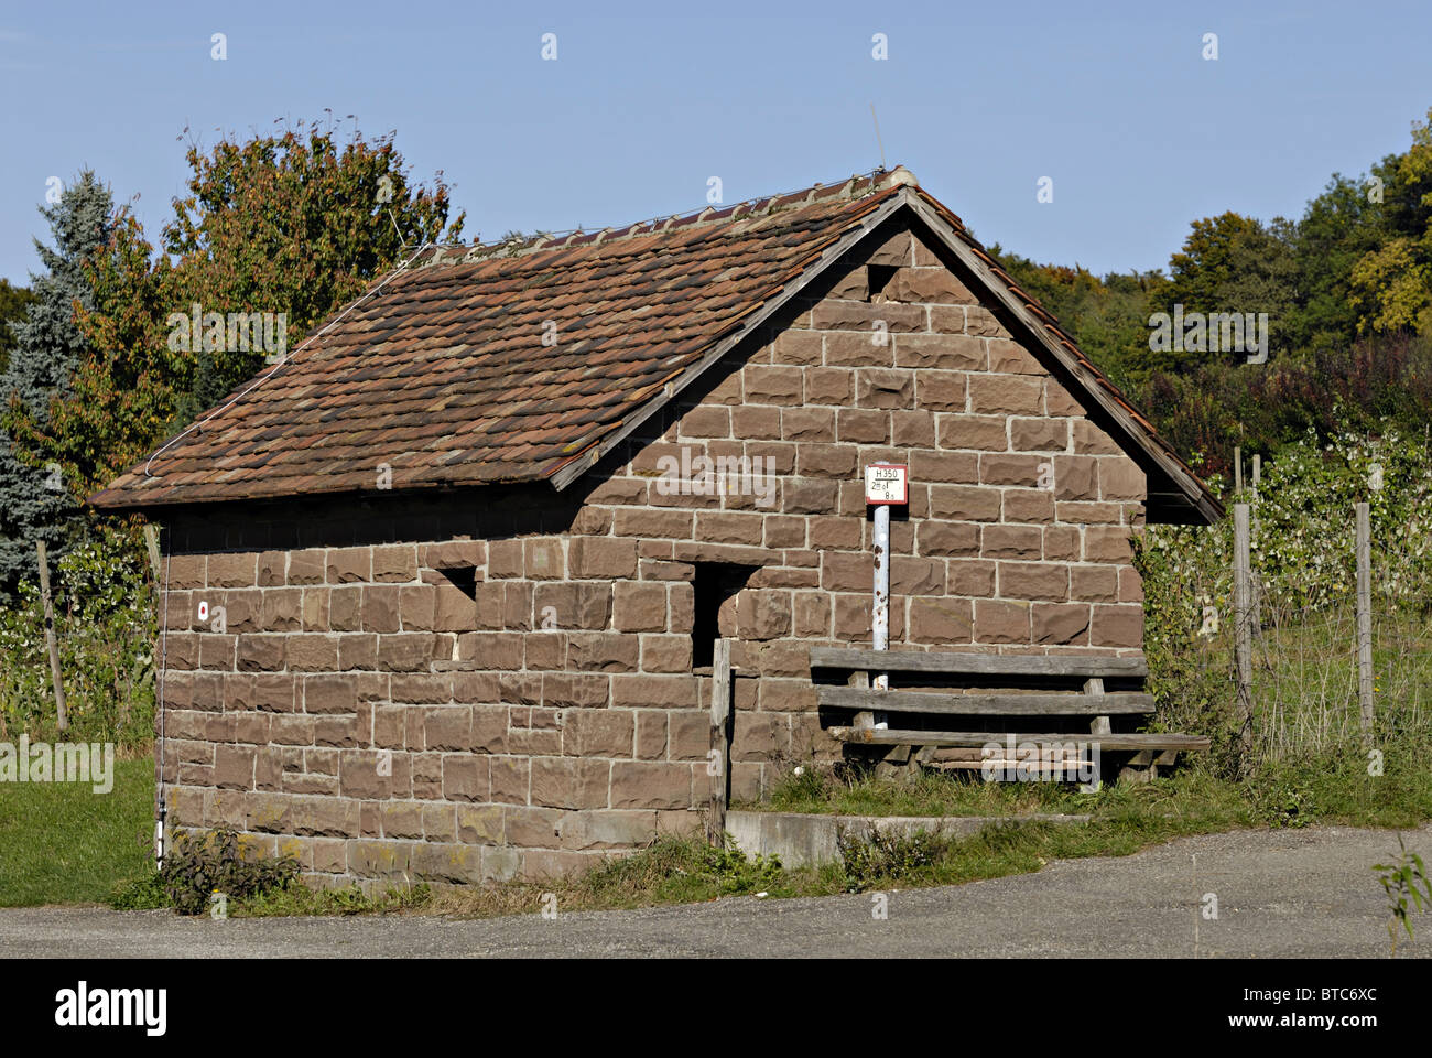
[{"label": "tree with orange-green autumn leaves behind the roof's left end", "polygon": [[57,463],[77,496],[103,487],[249,378],[259,348],[170,341],[175,315],[286,315],[291,344],[424,242],[457,242],[448,186],[414,184],[392,135],[339,142],[318,123],[188,148],[188,194],[159,248],[120,208],[86,271],[76,323],[90,350],[37,414],[11,401],[26,462]]}]

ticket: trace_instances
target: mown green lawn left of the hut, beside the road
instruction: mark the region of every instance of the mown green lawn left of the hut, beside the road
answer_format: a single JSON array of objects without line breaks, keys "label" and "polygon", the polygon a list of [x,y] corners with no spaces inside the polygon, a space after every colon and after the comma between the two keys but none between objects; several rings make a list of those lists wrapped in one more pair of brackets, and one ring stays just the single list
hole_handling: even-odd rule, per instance
[{"label": "mown green lawn left of the hut, beside the road", "polygon": [[153,863],[155,764],[115,761],[115,787],[0,783],[0,907],[99,903]]}]

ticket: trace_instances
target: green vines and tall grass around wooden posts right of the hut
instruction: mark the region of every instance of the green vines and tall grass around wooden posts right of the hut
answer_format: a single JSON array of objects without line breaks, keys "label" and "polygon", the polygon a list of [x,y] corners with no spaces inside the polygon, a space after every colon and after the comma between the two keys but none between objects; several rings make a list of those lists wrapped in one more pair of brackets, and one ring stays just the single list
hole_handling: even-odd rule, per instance
[{"label": "green vines and tall grass around wooden posts right of the hut", "polygon": [[[1432,449],[1423,437],[1307,439],[1263,464],[1209,526],[1150,526],[1144,586],[1151,727],[1211,738],[1221,774],[1363,748],[1356,503],[1370,510],[1372,741],[1432,744]],[[1233,507],[1250,505],[1252,744],[1242,741]]]}]

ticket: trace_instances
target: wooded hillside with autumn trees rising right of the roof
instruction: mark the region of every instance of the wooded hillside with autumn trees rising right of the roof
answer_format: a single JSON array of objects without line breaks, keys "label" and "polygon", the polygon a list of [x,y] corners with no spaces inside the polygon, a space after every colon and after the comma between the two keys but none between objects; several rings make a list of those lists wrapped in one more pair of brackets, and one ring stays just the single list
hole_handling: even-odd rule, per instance
[{"label": "wooded hillside with autumn trees rising right of the roof", "polygon": [[[1167,271],[1097,277],[992,248],[1177,452],[1209,473],[1233,447],[1432,419],[1432,112],[1365,175],[1335,173],[1297,219],[1193,221]],[[1154,314],[1266,313],[1269,358],[1156,348]]]}]

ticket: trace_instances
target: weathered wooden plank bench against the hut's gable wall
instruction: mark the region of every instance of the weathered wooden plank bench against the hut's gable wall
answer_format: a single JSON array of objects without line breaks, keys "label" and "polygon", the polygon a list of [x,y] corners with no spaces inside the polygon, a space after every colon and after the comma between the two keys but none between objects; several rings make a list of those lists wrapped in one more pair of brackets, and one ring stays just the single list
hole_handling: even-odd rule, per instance
[{"label": "weathered wooden plank bench against the hut's gable wall", "polygon": [[[832,725],[829,733],[856,747],[884,747],[878,774],[914,774],[931,763],[941,748],[979,750],[990,743],[1065,745],[1078,738],[1094,743],[1100,753],[1114,751],[1123,760],[1120,781],[1147,781],[1158,766],[1174,763],[1180,750],[1207,750],[1209,740],[1189,734],[1116,733],[1113,717],[1140,717],[1154,711],[1151,694],[1141,690],[1104,690],[1104,681],[1141,687],[1148,675],[1143,658],[991,655],[959,652],[872,651],[839,647],[811,649],[812,678],[821,671],[846,672],[846,682],[816,681],[822,711],[853,714],[849,725]],[[964,684],[961,688],[919,691],[879,690],[874,674],[898,675],[904,682]],[[985,690],[981,690],[985,688]],[[994,690],[998,688],[998,690]],[[998,717],[1021,721],[1078,718],[1083,731],[947,731],[882,724],[876,714],[922,717]],[[1091,737],[1093,735],[1093,737]],[[1098,761],[1094,761],[1098,764]],[[947,767],[1014,767],[1017,761],[965,754]],[[1027,766],[1028,761],[1025,760]],[[1045,771],[1064,771],[1090,761],[1054,758]],[[1088,784],[1098,786],[1098,777]]]}]

